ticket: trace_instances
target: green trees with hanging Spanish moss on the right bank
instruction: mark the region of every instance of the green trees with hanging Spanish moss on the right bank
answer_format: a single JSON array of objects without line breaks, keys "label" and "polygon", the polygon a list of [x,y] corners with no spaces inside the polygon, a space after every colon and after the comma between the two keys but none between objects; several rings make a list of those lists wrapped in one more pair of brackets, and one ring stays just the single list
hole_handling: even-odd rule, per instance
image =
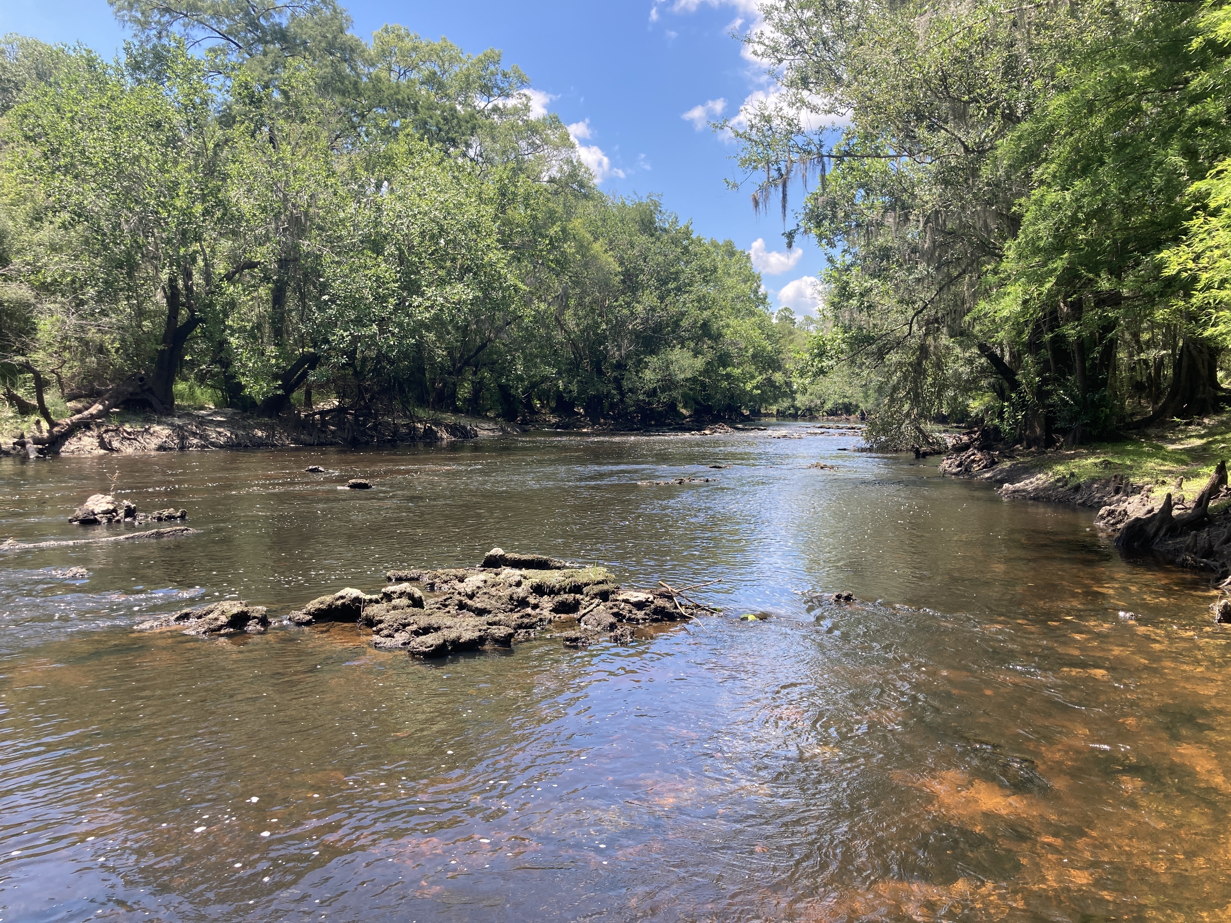
[{"label": "green trees with hanging Spanish moss on the right bank", "polygon": [[831,254],[814,361],[875,388],[885,439],[975,411],[1049,444],[1222,401],[1225,4],[763,12],[748,41],[784,92],[741,165],[784,220],[819,175],[787,231]]}]

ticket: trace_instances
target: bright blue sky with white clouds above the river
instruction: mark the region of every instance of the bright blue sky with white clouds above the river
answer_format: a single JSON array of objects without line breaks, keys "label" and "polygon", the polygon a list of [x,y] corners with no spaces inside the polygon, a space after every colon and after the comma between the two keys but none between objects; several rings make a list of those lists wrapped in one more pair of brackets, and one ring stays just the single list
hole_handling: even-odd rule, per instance
[{"label": "bright blue sky with white clouds above the river", "polygon": [[[774,305],[815,313],[822,255],[810,241],[787,254],[780,218],[755,217],[736,175],[735,145],[705,124],[772,92],[764,69],[732,31],[756,21],[756,0],[352,0],[355,32],[387,22],[448,37],[471,54],[499,48],[531,78],[537,98],[572,127],[602,188],[657,193],[707,236],[752,254]],[[106,0],[4,0],[0,33],[85,42],[111,55],[124,32]]]}]

